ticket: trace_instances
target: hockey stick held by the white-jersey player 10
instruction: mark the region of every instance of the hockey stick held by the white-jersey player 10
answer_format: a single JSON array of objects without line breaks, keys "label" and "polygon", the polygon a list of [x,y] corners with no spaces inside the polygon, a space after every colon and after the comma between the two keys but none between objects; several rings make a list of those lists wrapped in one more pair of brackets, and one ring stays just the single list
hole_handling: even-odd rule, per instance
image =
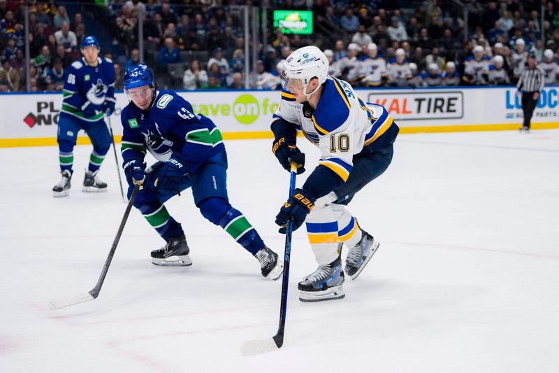
[{"label": "hockey stick held by the white-jersey player 10", "polygon": [[[289,196],[295,190],[297,164],[291,163],[291,178],[289,179]],[[285,231],[284,276],[282,278],[282,301],[279,304],[279,327],[272,338],[254,339],[240,346],[242,355],[256,355],[279,349],[284,344],[285,316],[287,311],[287,286],[289,285],[289,259],[291,257],[291,235],[293,234],[293,221],[287,222]]]}]

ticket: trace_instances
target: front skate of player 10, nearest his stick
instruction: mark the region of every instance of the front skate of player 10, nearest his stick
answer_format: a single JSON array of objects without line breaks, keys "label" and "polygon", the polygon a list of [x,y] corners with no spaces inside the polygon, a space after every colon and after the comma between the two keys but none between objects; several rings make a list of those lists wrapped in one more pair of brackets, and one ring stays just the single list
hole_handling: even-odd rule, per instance
[{"label": "front skate of player 10, nearest his stick", "polygon": [[338,257],[329,265],[321,265],[318,269],[299,283],[299,300],[301,302],[320,302],[322,300],[337,300],[345,297],[342,284],[344,271],[342,260]]}]

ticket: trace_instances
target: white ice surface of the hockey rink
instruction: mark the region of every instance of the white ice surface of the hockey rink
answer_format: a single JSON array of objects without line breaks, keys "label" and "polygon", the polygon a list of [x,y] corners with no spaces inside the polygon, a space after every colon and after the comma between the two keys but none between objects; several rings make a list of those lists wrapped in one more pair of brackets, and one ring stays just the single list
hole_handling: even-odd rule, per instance
[{"label": "white ice surface of the hockey rink", "polygon": [[[283,253],[289,174],[269,140],[226,147],[233,206]],[[400,135],[350,204],[375,258],[344,300],[299,302],[315,264],[298,230],[284,346],[249,357],[242,342],[277,330],[281,283],[189,191],[167,206],[194,265],[152,265],[163,242],[133,210],[99,298],[48,309],[93,288],[124,213],[112,149],[109,191],[80,191],[89,151],[75,149],[71,194],[55,199],[56,147],[0,149],[0,372],[559,372],[557,130]]]}]

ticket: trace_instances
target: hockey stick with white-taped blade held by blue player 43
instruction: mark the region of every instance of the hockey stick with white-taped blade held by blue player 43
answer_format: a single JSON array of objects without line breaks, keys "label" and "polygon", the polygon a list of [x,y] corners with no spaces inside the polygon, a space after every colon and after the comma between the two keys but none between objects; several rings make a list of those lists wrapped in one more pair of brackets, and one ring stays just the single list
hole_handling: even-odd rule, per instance
[{"label": "hockey stick with white-taped blade held by blue player 43", "polygon": [[112,257],[115,255],[115,251],[117,251],[118,241],[120,240],[120,236],[122,235],[122,231],[124,230],[124,225],[126,225],[126,220],[128,220],[128,216],[130,215],[130,210],[132,209],[134,199],[136,199],[136,195],[138,195],[138,190],[140,190],[140,185],[134,186],[132,195],[130,196],[130,201],[128,202],[128,206],[126,206],[126,211],[124,211],[124,216],[122,217],[122,221],[120,222],[117,237],[115,237],[115,241],[112,242],[112,247],[110,248],[107,260],[105,261],[105,266],[103,267],[103,271],[101,271],[101,276],[99,276],[99,280],[97,281],[95,287],[90,290],[89,293],[82,293],[80,295],[73,295],[70,297],[58,298],[57,300],[51,300],[48,304],[48,307],[50,309],[61,309],[64,307],[73,306],[74,304],[87,302],[88,300],[94,300],[96,297],[99,296],[99,292],[101,292],[101,286],[103,286],[103,281],[105,281],[105,276],[107,276],[107,272],[109,270],[110,262],[112,261]]}]

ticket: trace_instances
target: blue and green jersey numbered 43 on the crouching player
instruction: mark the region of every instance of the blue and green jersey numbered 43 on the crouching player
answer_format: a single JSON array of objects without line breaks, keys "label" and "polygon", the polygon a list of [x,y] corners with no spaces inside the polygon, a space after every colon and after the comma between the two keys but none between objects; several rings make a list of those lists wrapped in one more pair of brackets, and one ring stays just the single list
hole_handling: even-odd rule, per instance
[{"label": "blue and green jersey numbered 43 on the crouching player", "polygon": [[225,150],[219,129],[210,118],[195,114],[191,104],[175,92],[158,90],[152,106],[143,111],[130,102],[120,115],[124,168],[142,163],[146,150],[157,160],[180,159],[189,174]]}]

